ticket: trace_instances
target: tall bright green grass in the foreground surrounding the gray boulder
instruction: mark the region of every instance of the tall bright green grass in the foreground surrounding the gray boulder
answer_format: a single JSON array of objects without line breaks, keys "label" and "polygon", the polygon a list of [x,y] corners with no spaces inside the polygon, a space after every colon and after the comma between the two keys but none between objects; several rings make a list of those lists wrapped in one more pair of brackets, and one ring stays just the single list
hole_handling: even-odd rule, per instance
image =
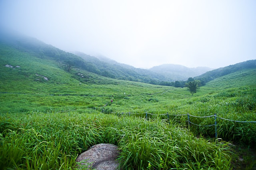
[{"label": "tall bright green grass in the foreground surrounding the gray boulder", "polygon": [[227,143],[172,122],[68,112],[1,115],[0,124],[3,169],[75,169],[78,154],[98,143],[118,145],[123,169],[232,167]]}]

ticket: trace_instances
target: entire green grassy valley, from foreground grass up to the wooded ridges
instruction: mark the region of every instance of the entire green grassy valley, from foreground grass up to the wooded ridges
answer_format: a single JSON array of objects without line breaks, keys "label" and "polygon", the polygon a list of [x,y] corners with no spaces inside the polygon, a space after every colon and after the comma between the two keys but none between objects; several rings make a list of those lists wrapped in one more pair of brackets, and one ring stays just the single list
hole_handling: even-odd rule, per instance
[{"label": "entire green grassy valley, from foreground grass up to the wooded ridges", "polygon": [[[75,169],[77,155],[98,143],[118,145],[123,169],[251,169],[256,163],[251,154],[256,123],[218,119],[222,140],[215,140],[214,127],[191,125],[188,130],[186,115],[166,121],[166,115],[146,120],[143,114],[216,113],[256,121],[255,69],[214,79],[192,96],[186,88],[109,79],[79,69],[68,73],[58,62],[0,44],[0,76],[2,169]],[[190,121],[214,124],[213,117]]]}]

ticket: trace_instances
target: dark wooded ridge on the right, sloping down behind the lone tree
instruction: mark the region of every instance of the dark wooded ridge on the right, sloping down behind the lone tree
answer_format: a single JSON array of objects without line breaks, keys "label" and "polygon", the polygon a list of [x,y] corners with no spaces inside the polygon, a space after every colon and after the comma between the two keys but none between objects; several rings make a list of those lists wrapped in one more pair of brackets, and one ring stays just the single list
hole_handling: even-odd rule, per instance
[{"label": "dark wooded ridge on the right, sloping down behind the lone tree", "polygon": [[202,75],[194,77],[194,79],[198,79],[202,82],[207,83],[211,80],[222,77],[224,75],[234,73],[236,71],[244,71],[246,69],[255,69],[255,68],[256,68],[256,59],[248,60],[248,61],[237,63],[234,65],[229,65],[227,67],[221,67],[218,69],[214,69],[212,71],[208,71]]}]

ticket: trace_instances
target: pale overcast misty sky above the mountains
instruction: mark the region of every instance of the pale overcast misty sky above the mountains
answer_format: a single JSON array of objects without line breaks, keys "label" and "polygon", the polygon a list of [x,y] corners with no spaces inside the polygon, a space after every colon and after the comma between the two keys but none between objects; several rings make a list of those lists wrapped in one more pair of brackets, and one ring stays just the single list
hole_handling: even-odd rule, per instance
[{"label": "pale overcast misty sky above the mountains", "polygon": [[256,59],[256,0],[0,0],[0,24],[140,68]]}]

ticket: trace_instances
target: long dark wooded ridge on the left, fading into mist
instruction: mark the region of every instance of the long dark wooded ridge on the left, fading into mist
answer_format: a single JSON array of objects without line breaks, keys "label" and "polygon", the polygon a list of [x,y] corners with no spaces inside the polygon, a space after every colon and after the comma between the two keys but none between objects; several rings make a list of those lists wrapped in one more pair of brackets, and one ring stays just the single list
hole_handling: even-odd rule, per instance
[{"label": "long dark wooded ridge on the left, fading into mist", "polygon": [[146,69],[136,69],[132,66],[119,63],[110,64],[108,62],[100,61],[96,57],[74,52],[77,55],[80,55],[80,57],[78,57],[77,55],[53,47],[52,45],[45,44],[35,38],[23,35],[5,34],[4,32],[0,32],[0,42],[18,49],[20,52],[28,52],[41,59],[53,60],[68,71],[72,70],[72,68],[78,68],[104,77],[150,84],[173,81],[162,74]]}]

